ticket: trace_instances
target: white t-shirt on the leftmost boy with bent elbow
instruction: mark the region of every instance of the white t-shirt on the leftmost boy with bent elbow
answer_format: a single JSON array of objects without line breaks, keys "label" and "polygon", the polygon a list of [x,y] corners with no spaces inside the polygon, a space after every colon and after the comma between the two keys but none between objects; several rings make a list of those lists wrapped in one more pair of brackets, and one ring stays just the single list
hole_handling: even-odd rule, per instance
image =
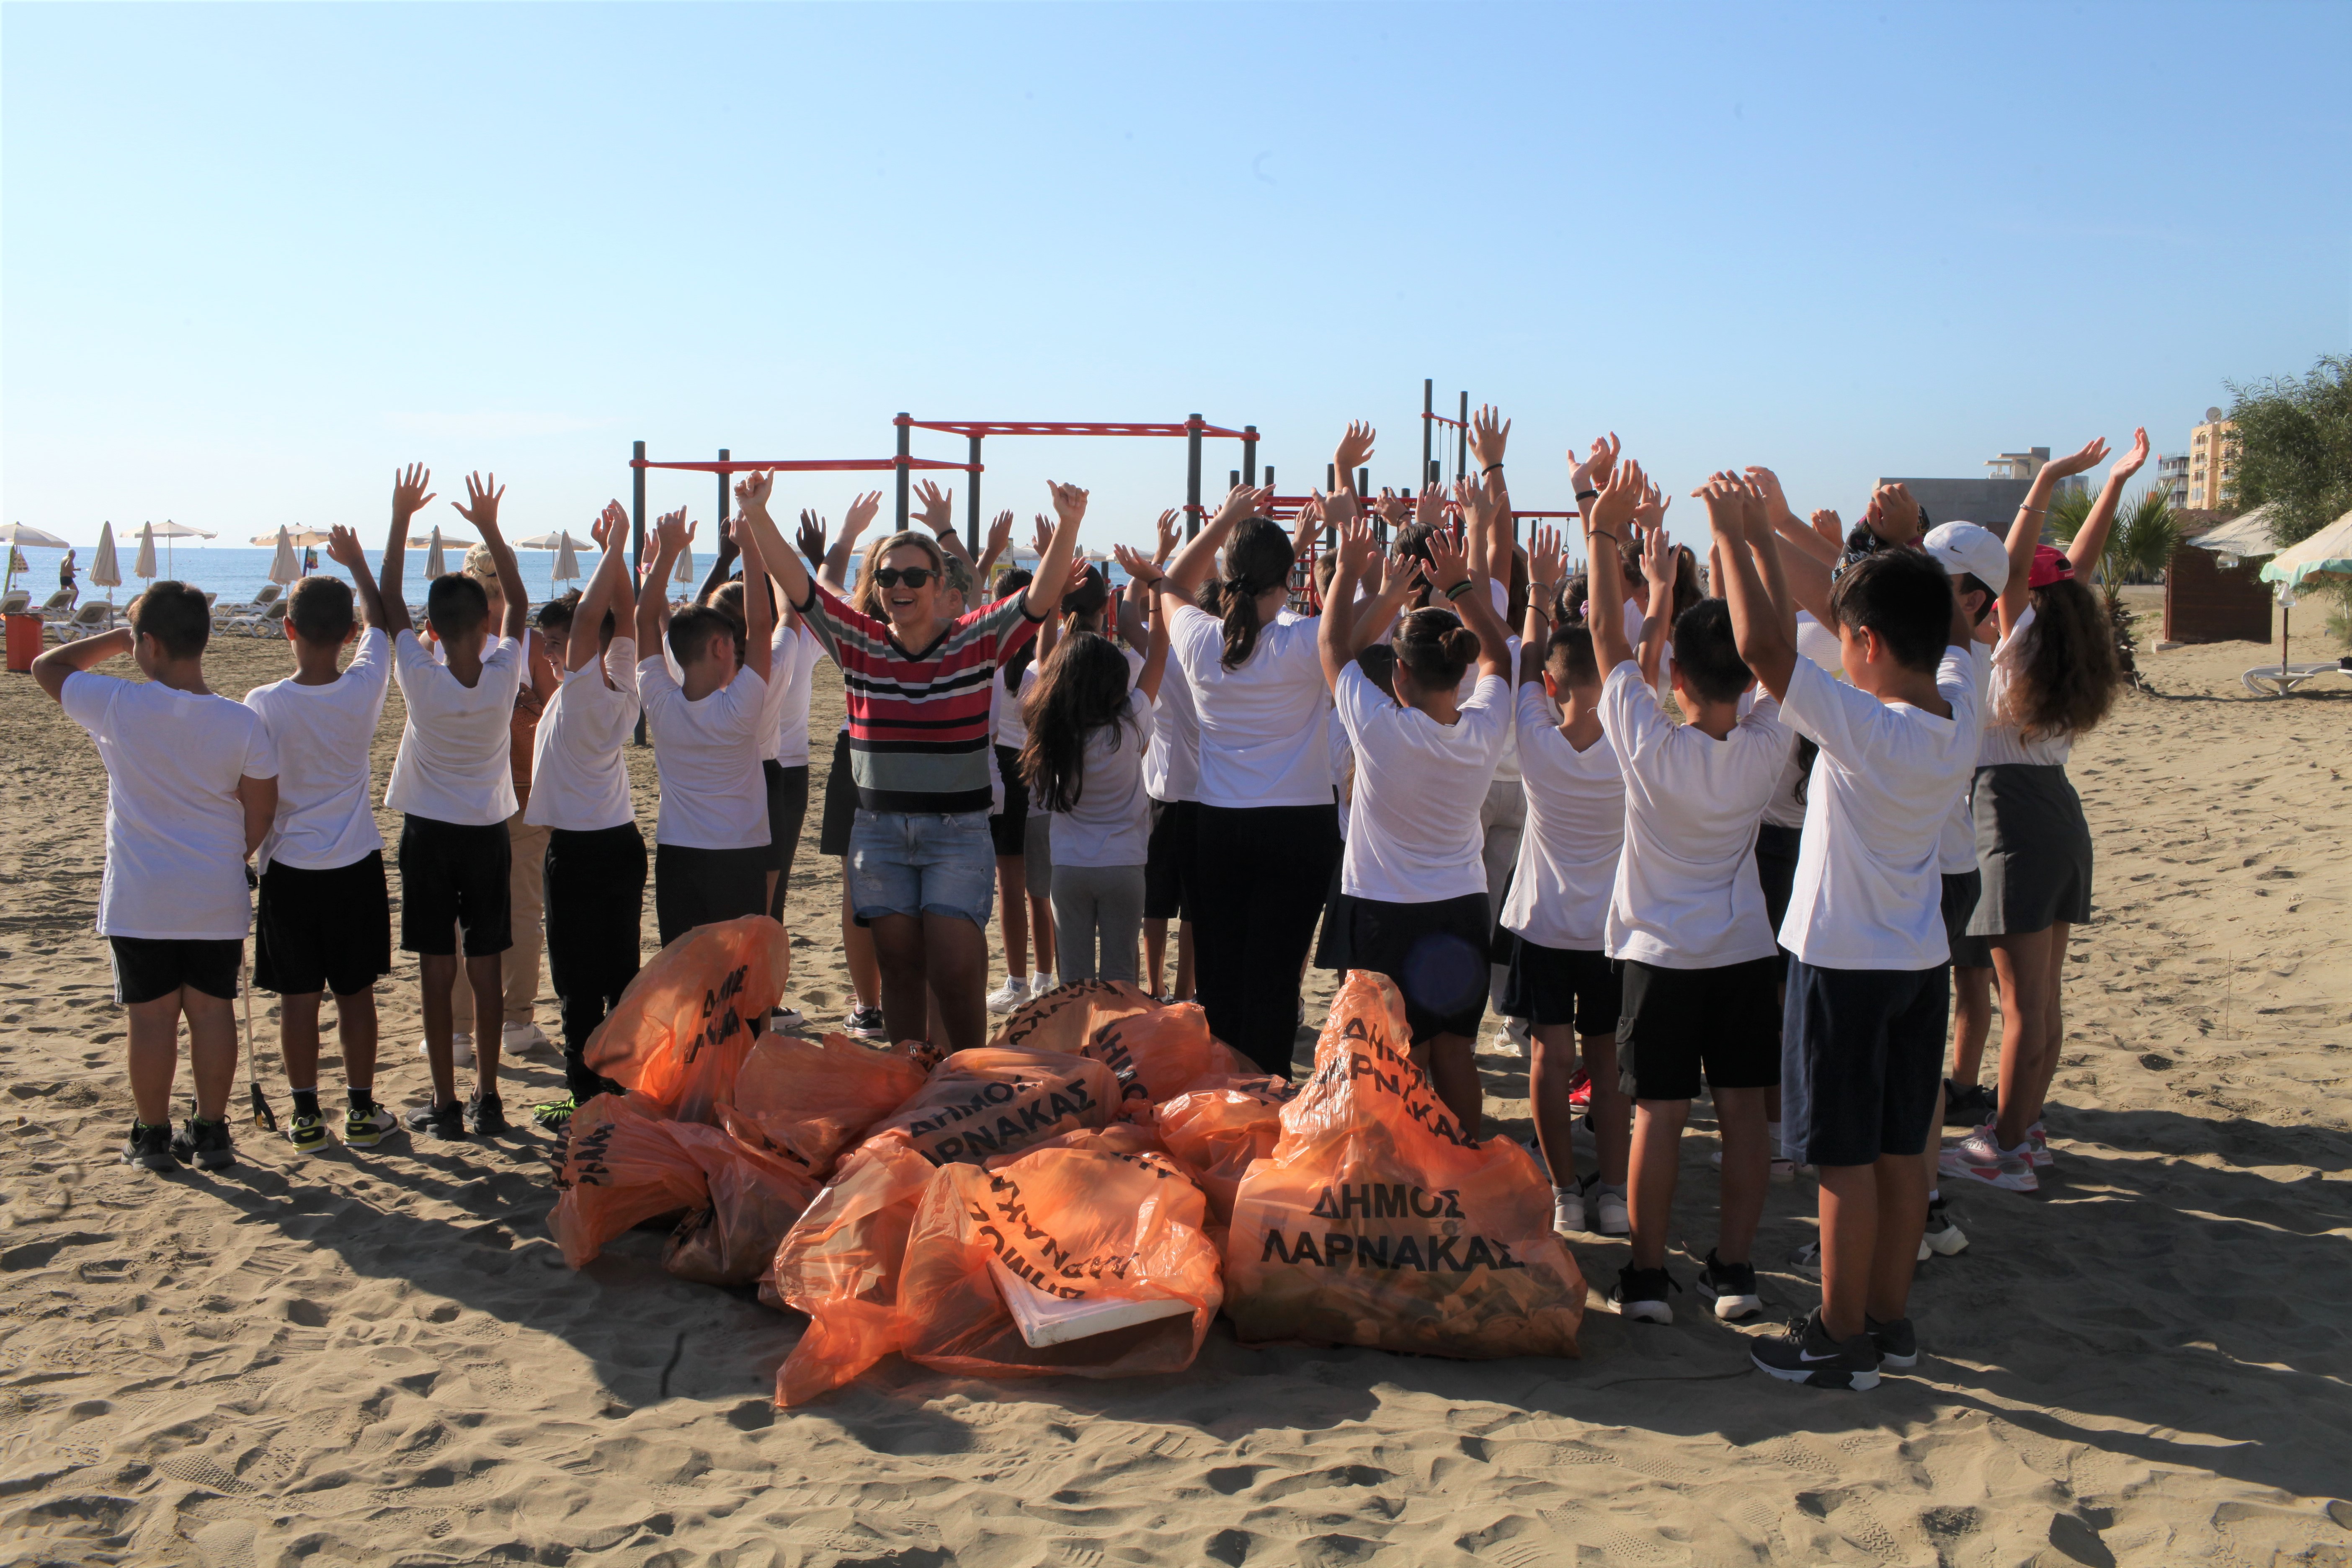
[{"label": "white t-shirt on the leftmost boy with bent elbow", "polygon": [[75,670],[59,691],[106,764],[99,936],[242,940],[240,778],[275,778],[268,724],[226,696]]}]

